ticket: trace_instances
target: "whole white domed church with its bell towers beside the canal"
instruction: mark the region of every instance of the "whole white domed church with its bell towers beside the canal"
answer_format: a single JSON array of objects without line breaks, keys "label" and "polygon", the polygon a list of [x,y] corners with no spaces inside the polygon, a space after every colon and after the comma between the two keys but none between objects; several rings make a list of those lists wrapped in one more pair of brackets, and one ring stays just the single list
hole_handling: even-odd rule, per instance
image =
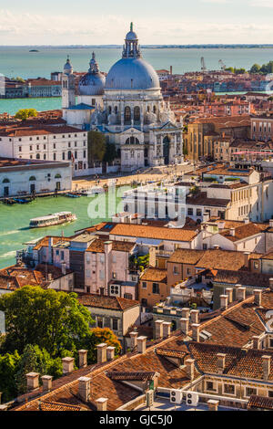
[{"label": "whole white domed church with its bell towers beside the canal", "polygon": [[157,72],[142,58],[132,24],[122,58],[106,78],[93,55],[79,82],[79,104],[70,62],[63,76],[67,123],[104,133],[106,141],[116,144],[123,172],[183,162],[183,124],[163,100]]}]

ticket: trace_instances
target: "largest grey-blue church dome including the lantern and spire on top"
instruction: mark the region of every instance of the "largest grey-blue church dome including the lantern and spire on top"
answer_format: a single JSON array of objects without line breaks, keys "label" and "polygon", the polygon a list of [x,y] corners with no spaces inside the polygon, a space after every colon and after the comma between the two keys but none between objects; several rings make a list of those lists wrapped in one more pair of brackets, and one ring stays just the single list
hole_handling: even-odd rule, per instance
[{"label": "largest grey-blue church dome including the lantern and spire on top", "polygon": [[160,89],[156,70],[141,57],[132,24],[126,35],[122,58],[107,74],[106,89]]}]

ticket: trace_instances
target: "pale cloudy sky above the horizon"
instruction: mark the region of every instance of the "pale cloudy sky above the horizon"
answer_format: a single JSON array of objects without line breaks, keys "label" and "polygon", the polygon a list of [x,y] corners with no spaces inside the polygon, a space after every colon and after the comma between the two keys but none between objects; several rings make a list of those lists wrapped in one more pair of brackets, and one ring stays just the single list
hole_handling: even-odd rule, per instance
[{"label": "pale cloudy sky above the horizon", "polygon": [[273,0],[0,0],[0,45],[273,44]]}]

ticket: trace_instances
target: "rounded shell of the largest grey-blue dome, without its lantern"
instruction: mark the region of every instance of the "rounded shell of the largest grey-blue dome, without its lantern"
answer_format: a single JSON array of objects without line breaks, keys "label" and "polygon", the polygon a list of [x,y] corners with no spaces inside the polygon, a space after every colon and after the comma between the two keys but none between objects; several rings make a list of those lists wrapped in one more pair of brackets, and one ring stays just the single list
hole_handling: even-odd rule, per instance
[{"label": "rounded shell of the largest grey-blue dome, without its lantern", "polygon": [[156,88],[160,88],[157,72],[143,58],[121,58],[106,77],[106,89]]}]

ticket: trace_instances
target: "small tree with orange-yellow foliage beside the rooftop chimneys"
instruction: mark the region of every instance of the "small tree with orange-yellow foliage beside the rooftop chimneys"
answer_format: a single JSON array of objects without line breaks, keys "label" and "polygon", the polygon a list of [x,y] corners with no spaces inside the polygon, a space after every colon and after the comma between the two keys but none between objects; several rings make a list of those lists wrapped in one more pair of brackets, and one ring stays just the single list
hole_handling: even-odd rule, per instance
[{"label": "small tree with orange-yellow foliage beside the rooftop chimneys", "polygon": [[113,330],[109,328],[94,328],[90,331],[90,334],[86,337],[84,347],[88,351],[87,361],[88,363],[96,362],[96,346],[105,342],[108,346],[115,347],[115,354],[118,355],[121,351],[121,344],[117,340]]}]

